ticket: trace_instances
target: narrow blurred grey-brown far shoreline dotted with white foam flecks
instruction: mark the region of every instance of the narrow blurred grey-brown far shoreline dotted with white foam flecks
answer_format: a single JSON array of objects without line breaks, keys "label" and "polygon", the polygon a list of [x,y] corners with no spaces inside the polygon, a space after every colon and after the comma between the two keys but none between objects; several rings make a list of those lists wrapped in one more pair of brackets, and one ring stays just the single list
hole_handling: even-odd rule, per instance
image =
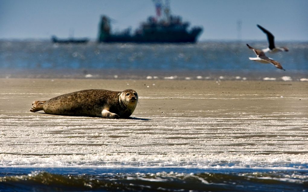
[{"label": "narrow blurred grey-brown far shoreline dotted with white foam flecks", "polygon": [[4,69],[0,78],[92,80],[234,80],[308,81],[306,71],[143,70],[143,69]]}]

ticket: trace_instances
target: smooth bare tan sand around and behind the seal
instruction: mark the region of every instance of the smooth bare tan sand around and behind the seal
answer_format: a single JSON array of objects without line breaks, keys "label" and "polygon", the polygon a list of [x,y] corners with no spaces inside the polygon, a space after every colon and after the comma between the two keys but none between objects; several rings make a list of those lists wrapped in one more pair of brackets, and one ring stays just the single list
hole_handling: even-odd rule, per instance
[{"label": "smooth bare tan sand around and behind the seal", "polygon": [[[255,112],[270,115],[276,112],[302,113],[307,117],[308,82],[213,81],[213,80],[94,80],[94,79],[0,79],[1,115],[35,115],[30,113],[33,100],[83,89],[122,91],[135,89],[140,97],[132,117],[161,117],[182,112],[202,111]],[[306,108],[305,108],[306,107]],[[161,114],[163,113],[163,114]],[[208,117],[208,116],[202,116]]]}]

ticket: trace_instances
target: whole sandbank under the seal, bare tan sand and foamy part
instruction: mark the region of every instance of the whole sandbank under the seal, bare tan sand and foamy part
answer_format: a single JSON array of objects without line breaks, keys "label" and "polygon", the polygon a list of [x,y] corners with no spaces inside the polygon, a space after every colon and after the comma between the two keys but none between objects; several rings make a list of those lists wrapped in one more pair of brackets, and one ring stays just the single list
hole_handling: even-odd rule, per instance
[{"label": "whole sandbank under the seal, bare tan sand and foamy part", "polygon": [[[131,119],[30,112],[82,89],[135,89]],[[308,163],[308,82],[0,79],[0,166]]]}]

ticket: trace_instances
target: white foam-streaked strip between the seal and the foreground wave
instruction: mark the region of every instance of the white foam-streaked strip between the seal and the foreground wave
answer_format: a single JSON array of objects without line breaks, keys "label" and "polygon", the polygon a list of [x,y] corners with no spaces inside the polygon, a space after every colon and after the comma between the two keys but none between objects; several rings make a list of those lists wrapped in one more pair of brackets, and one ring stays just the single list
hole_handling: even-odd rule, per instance
[{"label": "white foam-streaked strip between the seal and the foreground wave", "polygon": [[306,115],[276,112],[264,117],[223,110],[164,116],[135,112],[132,120],[1,115],[0,163],[13,167],[197,168],[231,163],[285,168],[290,162],[303,163],[301,168],[307,167],[308,159]]}]

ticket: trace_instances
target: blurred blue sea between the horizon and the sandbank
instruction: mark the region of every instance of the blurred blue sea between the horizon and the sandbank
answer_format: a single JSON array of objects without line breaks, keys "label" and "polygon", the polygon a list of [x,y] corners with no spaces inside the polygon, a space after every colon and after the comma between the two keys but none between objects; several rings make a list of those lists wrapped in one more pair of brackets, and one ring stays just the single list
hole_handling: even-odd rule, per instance
[{"label": "blurred blue sea between the horizon and the sandbank", "polygon": [[[52,44],[50,41],[0,41],[1,77],[172,78],[238,80],[306,80],[308,42],[276,42],[289,52],[256,57],[246,43],[266,48],[267,42],[209,41],[197,44]],[[289,78],[288,78],[289,77]]]}]

